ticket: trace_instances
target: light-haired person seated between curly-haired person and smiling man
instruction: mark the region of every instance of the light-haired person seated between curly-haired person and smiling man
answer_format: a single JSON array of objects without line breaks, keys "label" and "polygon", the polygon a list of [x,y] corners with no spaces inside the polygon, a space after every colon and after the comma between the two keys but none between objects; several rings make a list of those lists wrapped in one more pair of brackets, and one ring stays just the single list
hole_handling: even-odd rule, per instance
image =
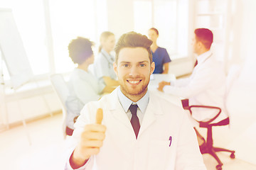
[{"label": "light-haired person seated between curly-haired person and smiling man", "polygon": [[114,74],[114,57],[110,54],[114,50],[114,34],[105,31],[100,35],[99,55],[94,64],[96,77],[107,86],[119,86],[116,74]]}]

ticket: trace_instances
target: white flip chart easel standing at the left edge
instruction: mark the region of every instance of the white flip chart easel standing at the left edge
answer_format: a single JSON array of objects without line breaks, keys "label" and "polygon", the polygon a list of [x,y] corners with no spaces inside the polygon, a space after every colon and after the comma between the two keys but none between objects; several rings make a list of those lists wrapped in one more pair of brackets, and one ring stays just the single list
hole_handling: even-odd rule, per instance
[{"label": "white flip chart easel standing at the left edge", "polygon": [[[0,8],[0,74],[1,74],[1,91],[0,91],[0,107],[1,107],[1,115],[4,120],[4,124],[6,123],[6,128],[9,129],[9,119],[8,119],[8,108],[7,108],[7,100],[6,100],[6,84],[4,82],[3,76],[3,60],[6,64],[6,68],[8,69],[10,78],[11,78],[11,86],[14,88],[14,93],[16,94],[16,89],[18,87],[23,86],[28,81],[33,80],[33,71],[31,69],[31,65],[28,61],[28,57],[26,55],[26,50],[23,45],[23,41],[21,39],[21,35],[18,31],[18,27],[16,26],[16,22],[14,20],[14,16],[12,14],[11,8]],[[43,101],[46,103],[46,107],[52,115],[48,103],[46,102],[46,98],[43,96]],[[28,129],[26,126],[26,121],[24,116],[26,113],[21,110],[21,103],[18,99],[18,109],[21,115],[21,121],[23,123],[23,127],[26,131],[26,135],[28,137],[28,142],[31,145],[31,139],[28,134]],[[5,118],[4,118],[5,117]]]}]

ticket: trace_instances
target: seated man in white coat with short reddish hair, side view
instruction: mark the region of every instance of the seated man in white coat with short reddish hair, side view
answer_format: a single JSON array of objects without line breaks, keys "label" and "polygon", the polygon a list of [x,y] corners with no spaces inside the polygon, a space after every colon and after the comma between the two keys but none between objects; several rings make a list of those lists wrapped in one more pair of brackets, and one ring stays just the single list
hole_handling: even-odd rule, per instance
[{"label": "seated man in white coat with short reddish hair, side view", "polygon": [[[190,105],[216,106],[223,108],[225,93],[225,72],[222,64],[215,60],[210,46],[213,42],[213,33],[206,28],[194,31],[193,52],[196,53],[198,64],[194,67],[190,77],[177,79],[174,82],[162,81],[159,91],[188,98]],[[214,111],[195,111],[193,118],[198,121],[210,120],[216,115]],[[213,123],[227,118],[225,113],[218,116]],[[196,123],[193,121],[193,123]],[[195,124],[197,125],[197,123]],[[195,129],[196,130],[196,129]],[[200,137],[201,138],[201,137]],[[198,143],[204,140],[198,138]]]}]

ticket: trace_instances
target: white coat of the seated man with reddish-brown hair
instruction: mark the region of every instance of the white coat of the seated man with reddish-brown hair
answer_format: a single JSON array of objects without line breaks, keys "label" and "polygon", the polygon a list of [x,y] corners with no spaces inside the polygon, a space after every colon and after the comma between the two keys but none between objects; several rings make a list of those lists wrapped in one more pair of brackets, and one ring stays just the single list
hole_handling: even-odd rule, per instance
[{"label": "white coat of the seated man with reddish-brown hair", "polygon": [[[223,65],[216,61],[210,51],[198,56],[198,64],[191,77],[171,81],[171,86],[164,86],[164,93],[189,98],[189,105],[205,105],[224,108],[225,72]],[[193,112],[196,120],[210,120],[217,110],[197,109]],[[223,110],[213,123],[227,118]]]}]

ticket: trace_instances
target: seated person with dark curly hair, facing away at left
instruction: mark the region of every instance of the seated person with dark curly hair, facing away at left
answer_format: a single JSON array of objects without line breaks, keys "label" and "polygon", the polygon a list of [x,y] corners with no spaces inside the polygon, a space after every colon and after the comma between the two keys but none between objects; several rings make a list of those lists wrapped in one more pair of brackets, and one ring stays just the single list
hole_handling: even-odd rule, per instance
[{"label": "seated person with dark curly hair, facing away at left", "polygon": [[65,102],[68,108],[66,134],[72,135],[74,123],[83,106],[89,101],[97,101],[102,93],[110,93],[112,88],[97,81],[97,78],[88,70],[94,61],[92,52],[93,42],[87,38],[78,37],[68,45],[69,56],[78,64],[70,75],[68,82],[70,96]]}]

